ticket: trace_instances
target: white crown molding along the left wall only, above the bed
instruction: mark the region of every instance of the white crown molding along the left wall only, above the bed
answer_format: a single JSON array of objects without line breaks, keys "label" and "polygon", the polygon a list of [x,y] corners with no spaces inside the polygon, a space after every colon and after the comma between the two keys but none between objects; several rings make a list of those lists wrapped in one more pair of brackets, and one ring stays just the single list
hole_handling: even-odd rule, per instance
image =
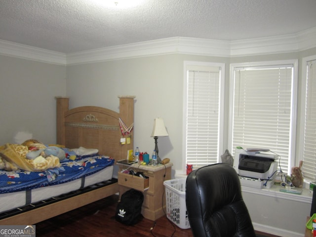
[{"label": "white crown molding along the left wall only, above the bed", "polygon": [[0,54],[39,62],[66,65],[66,54],[43,48],[0,40]]}]

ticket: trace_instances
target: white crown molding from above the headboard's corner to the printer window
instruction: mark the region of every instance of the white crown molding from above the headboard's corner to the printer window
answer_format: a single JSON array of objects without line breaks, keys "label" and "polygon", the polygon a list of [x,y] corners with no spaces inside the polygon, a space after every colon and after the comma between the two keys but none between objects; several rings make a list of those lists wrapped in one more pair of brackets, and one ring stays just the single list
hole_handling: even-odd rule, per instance
[{"label": "white crown molding from above the headboard's corner to the printer window", "polygon": [[67,54],[67,65],[174,53],[229,57],[229,41],[172,37]]}]

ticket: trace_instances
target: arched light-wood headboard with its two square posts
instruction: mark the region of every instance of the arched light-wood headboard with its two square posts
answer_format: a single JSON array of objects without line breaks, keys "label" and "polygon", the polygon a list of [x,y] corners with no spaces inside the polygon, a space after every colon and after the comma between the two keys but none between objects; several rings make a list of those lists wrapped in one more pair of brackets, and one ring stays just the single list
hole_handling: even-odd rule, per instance
[{"label": "arched light-wood headboard with its two square posts", "polygon": [[130,143],[121,144],[119,118],[130,126],[134,123],[135,96],[118,96],[119,113],[96,106],[83,106],[69,110],[69,98],[57,100],[57,144],[67,148],[94,148],[99,154],[115,160],[127,157],[133,149],[133,130]]}]

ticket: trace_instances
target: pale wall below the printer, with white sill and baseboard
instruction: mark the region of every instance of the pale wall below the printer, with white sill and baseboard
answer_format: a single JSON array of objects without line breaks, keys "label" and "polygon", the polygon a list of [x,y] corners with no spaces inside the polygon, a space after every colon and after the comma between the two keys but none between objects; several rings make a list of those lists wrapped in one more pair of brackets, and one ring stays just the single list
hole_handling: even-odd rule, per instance
[{"label": "pale wall below the printer, with white sill and baseboard", "polygon": [[311,211],[312,193],[286,194],[280,187],[256,190],[242,187],[242,197],[255,230],[280,237],[303,237]]}]

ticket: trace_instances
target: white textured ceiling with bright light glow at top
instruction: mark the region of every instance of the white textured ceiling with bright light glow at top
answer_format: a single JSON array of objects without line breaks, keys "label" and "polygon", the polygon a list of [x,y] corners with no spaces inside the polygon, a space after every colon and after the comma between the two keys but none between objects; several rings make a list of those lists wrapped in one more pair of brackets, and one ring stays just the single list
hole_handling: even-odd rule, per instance
[{"label": "white textured ceiling with bright light glow at top", "polygon": [[[57,52],[193,37],[244,40],[316,27],[316,0],[0,0],[0,40]],[[131,1],[131,0],[129,0]]]}]

